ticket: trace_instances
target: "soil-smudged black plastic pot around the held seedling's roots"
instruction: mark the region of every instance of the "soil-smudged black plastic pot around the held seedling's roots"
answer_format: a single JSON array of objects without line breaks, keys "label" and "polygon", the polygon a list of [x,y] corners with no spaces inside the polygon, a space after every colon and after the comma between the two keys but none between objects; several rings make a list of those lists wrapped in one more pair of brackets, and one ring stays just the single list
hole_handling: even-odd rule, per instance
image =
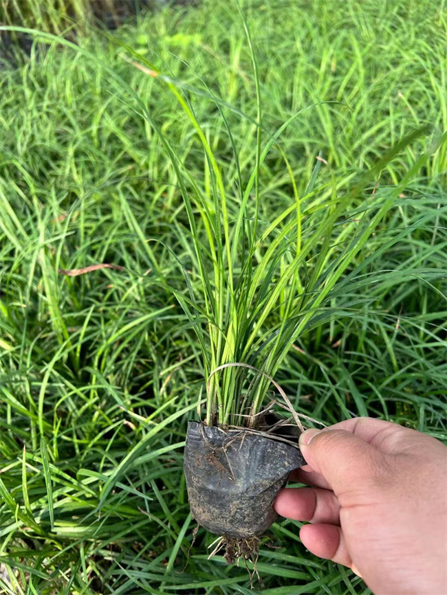
[{"label": "soil-smudged black plastic pot around the held seedling's roots", "polygon": [[262,535],[276,520],[277,493],[303,464],[301,451],[286,442],[191,421],[184,452],[191,513],[218,535]]}]

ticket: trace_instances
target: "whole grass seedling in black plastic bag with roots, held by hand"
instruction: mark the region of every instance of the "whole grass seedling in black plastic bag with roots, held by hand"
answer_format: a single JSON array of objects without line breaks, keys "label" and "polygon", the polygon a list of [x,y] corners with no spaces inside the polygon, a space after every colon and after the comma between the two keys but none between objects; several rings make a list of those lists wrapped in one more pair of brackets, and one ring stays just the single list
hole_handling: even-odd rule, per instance
[{"label": "whole grass seedling in black plastic bag with roots, held by hand", "polygon": [[[355,285],[358,291],[373,283],[368,267],[380,253],[365,251],[365,244],[426,155],[400,183],[375,192],[380,172],[428,133],[427,128],[413,131],[363,175],[329,176],[320,186],[322,160],[316,159],[314,174],[300,194],[280,142],[281,133],[302,111],[276,131],[264,130],[257,64],[245,19],[243,23],[257,97],[255,166],[248,175],[242,171],[226,111],[246,116],[208,87],[200,90],[217,106],[232,149],[225,170],[195,115],[190,96],[196,90],[133,53],[135,67],[175,95],[204,153],[207,182],[201,186],[166,133],[145,113],[175,168],[189,225],[179,229],[179,240],[192,247],[190,271],[175,255],[188,291],[172,289],[197,336],[206,381],[204,417],[187,429],[188,498],[197,523],[219,536],[215,551],[225,548],[228,562],[256,559],[259,539],[276,519],[276,494],[290,471],[305,464],[297,442],[303,430],[300,416],[276,383],[276,372],[303,333],[336,316],[355,315],[349,288]],[[290,179],[290,202],[273,221],[263,221],[261,186],[268,181],[261,174],[274,146]],[[399,239],[397,234],[388,245]],[[168,287],[166,280],[163,284]],[[272,385],[277,398],[269,393]],[[284,418],[275,413],[281,407],[288,412]]]}]

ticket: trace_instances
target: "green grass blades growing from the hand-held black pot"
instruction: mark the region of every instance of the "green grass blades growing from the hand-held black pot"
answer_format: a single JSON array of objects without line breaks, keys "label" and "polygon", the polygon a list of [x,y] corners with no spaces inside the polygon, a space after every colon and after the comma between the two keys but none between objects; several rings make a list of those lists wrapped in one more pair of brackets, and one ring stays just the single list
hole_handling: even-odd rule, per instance
[{"label": "green grass blades growing from the hand-held black pot", "polygon": [[[272,146],[281,140],[281,133],[305,109],[283,122],[263,144],[257,59],[245,19],[243,23],[257,94],[255,159],[246,182],[241,175],[241,149],[234,142],[225,115],[226,106],[222,106],[222,102],[207,89],[202,91],[210,96],[210,100],[215,100],[221,115],[226,144],[232,148],[234,163],[228,170],[233,179],[219,167],[211,148],[212,138],[207,137],[197,120],[193,103],[182,94],[182,83],[163,75],[153,63],[127,48],[140,60],[133,65],[167,85],[190,120],[204,150],[208,184],[202,189],[190,175],[188,166],[182,164],[182,155],[146,114],[173,163],[186,207],[190,236],[185,236],[184,229],[180,228],[179,233],[184,236],[180,242],[186,245],[190,240],[195,250],[199,294],[193,289],[190,274],[183,266],[189,295],[185,297],[178,292],[176,295],[193,325],[204,359],[207,425],[252,425],[263,407],[272,377],[301,333],[327,324],[335,313],[339,317],[352,311],[354,303],[349,299],[334,299],[340,296],[338,283],[340,287],[356,284],[365,293],[375,284],[375,277],[365,273],[381,251],[365,255],[363,247],[384,217],[389,216],[422,164],[445,141],[445,137],[435,137],[404,178],[380,192],[376,190],[381,183],[382,170],[386,170],[393,159],[418,137],[430,135],[429,126],[409,133],[371,170],[354,181],[349,180],[349,186],[345,185],[344,179],[333,177],[330,183],[315,187],[322,162],[318,157],[302,195],[298,193],[294,173],[280,147],[283,168],[290,176],[293,201],[277,212],[272,221],[261,222],[260,186],[264,161]],[[368,196],[365,191],[372,182],[375,186],[371,187]],[[252,205],[250,199],[253,199]],[[388,238],[386,246],[393,246],[401,238],[401,234]],[[341,280],[348,267],[352,267],[349,276]],[[307,273],[309,270],[312,273]],[[245,391],[246,368],[256,369],[260,374]]]}]

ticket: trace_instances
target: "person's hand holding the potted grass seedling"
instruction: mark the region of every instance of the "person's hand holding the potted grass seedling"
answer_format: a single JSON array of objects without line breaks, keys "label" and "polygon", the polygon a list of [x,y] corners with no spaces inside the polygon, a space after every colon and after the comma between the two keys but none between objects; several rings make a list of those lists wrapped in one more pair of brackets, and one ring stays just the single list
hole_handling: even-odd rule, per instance
[{"label": "person's hand holding the potted grass seedling", "polygon": [[352,568],[375,595],[447,594],[447,448],[384,420],[354,418],[300,438],[307,465],[274,507],[309,521],[304,546]]}]

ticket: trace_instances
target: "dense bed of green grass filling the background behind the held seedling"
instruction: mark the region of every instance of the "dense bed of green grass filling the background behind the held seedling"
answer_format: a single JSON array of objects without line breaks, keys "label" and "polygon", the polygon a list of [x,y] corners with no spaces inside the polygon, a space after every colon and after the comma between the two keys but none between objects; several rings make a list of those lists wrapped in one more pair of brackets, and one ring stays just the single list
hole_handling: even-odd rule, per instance
[{"label": "dense bed of green grass filling the background behind the held seedling", "polygon": [[[446,439],[446,13],[430,0],[274,4],[243,5],[262,148],[309,109],[259,167],[247,219],[257,215],[262,234],[312,181],[302,223],[303,242],[314,243],[295,283],[323,264],[330,275],[356,243],[275,379],[298,412],[325,423],[371,415]],[[212,201],[212,154],[231,222],[256,170],[243,21],[232,3],[205,1],[113,38],[92,34],[80,49],[49,41],[0,72],[0,563],[10,569],[0,584],[26,594],[248,595],[244,568],[207,560],[214,537],[203,529],[188,555],[182,447],[206,362],[195,319],[179,306],[193,304],[187,279],[204,308],[181,182]],[[132,65],[144,59],[170,78]],[[384,205],[362,243],[362,225]],[[204,243],[197,199],[192,209]],[[292,256],[281,254],[267,291]],[[102,263],[122,268],[59,272]],[[285,307],[279,296],[257,338]],[[207,345],[206,324],[201,332]],[[279,549],[263,548],[254,592],[368,592],[350,571],[306,552],[299,525],[272,528]]]}]

